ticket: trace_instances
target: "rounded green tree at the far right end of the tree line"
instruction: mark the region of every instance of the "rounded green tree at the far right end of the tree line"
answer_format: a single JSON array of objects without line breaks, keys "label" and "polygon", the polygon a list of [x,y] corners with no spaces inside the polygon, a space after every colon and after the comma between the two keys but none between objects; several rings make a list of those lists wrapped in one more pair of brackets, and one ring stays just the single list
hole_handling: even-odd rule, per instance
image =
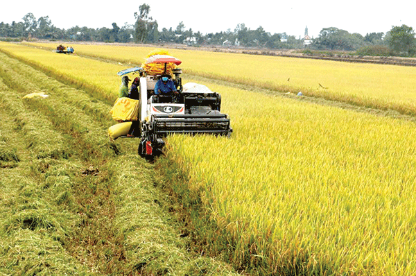
[{"label": "rounded green tree at the far right end of the tree line", "polygon": [[415,54],[415,31],[412,27],[401,25],[392,26],[387,35],[388,45],[390,49],[397,54],[406,53],[408,55]]}]

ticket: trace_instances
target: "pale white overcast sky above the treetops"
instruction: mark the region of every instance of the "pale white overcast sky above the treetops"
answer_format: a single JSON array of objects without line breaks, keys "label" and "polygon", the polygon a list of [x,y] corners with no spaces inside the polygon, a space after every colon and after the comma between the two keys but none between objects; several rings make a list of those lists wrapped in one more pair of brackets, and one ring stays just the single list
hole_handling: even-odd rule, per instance
[{"label": "pale white overcast sky above the treetops", "polygon": [[[386,33],[392,26],[416,29],[416,1],[13,1],[2,0],[0,22],[22,21],[32,12],[36,19],[49,16],[52,24],[68,29],[73,26],[112,28],[134,24],[134,13],[142,3],[150,6],[150,17],[162,28],[176,28],[183,21],[185,28],[202,34],[218,33],[238,24],[255,30],[262,26],[271,34],[284,33],[303,37],[308,26],[309,35],[318,37],[322,28],[336,27],[349,33]],[[136,3],[134,3],[136,2]],[[245,4],[248,2],[249,4]],[[279,3],[283,2],[283,3]]]}]

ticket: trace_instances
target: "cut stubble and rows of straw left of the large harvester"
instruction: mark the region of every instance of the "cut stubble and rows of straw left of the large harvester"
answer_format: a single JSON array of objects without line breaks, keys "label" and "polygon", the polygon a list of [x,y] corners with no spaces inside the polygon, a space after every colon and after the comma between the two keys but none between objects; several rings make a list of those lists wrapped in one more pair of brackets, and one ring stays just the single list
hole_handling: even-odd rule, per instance
[{"label": "cut stubble and rows of straw left of the large harvester", "polygon": [[[0,273],[238,275],[216,259],[189,252],[175,216],[166,212],[172,203],[155,189],[152,166],[124,154],[135,153],[137,145],[121,141],[118,155],[105,146],[105,130],[114,123],[108,119],[111,105],[1,58],[1,78],[8,86],[0,82],[1,100],[8,118],[21,112],[28,121],[45,123],[59,138],[50,139],[49,146],[62,142],[71,154],[33,159],[36,152],[16,139],[23,130],[9,130],[7,141],[24,158],[18,166],[0,168],[6,175],[0,179]],[[27,76],[28,85],[19,85]],[[49,97],[21,99],[33,89]],[[37,143],[42,137],[33,139]]]}]

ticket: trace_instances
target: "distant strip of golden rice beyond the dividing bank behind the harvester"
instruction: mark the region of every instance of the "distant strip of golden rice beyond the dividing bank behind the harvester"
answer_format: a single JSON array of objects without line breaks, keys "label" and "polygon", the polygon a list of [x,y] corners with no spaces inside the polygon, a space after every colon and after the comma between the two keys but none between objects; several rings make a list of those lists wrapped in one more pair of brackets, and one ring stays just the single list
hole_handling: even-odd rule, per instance
[{"label": "distant strip of golden rice beyond the dividing bank behind the harvester", "polygon": [[[76,49],[137,64],[144,62],[151,48],[76,44]],[[177,49],[170,52],[182,60],[181,68],[187,74],[416,114],[414,67]]]}]

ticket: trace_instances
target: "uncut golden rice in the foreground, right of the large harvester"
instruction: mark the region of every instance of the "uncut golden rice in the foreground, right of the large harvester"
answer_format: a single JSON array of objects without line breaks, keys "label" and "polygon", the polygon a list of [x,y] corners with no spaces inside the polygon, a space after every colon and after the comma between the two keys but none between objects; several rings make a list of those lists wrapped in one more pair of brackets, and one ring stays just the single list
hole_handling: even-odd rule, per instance
[{"label": "uncut golden rice in the foreground, right of the large harvester", "polygon": [[203,187],[234,258],[264,255],[268,273],[297,258],[305,274],[415,273],[414,123],[209,85],[232,138],[169,137],[168,158]]}]

